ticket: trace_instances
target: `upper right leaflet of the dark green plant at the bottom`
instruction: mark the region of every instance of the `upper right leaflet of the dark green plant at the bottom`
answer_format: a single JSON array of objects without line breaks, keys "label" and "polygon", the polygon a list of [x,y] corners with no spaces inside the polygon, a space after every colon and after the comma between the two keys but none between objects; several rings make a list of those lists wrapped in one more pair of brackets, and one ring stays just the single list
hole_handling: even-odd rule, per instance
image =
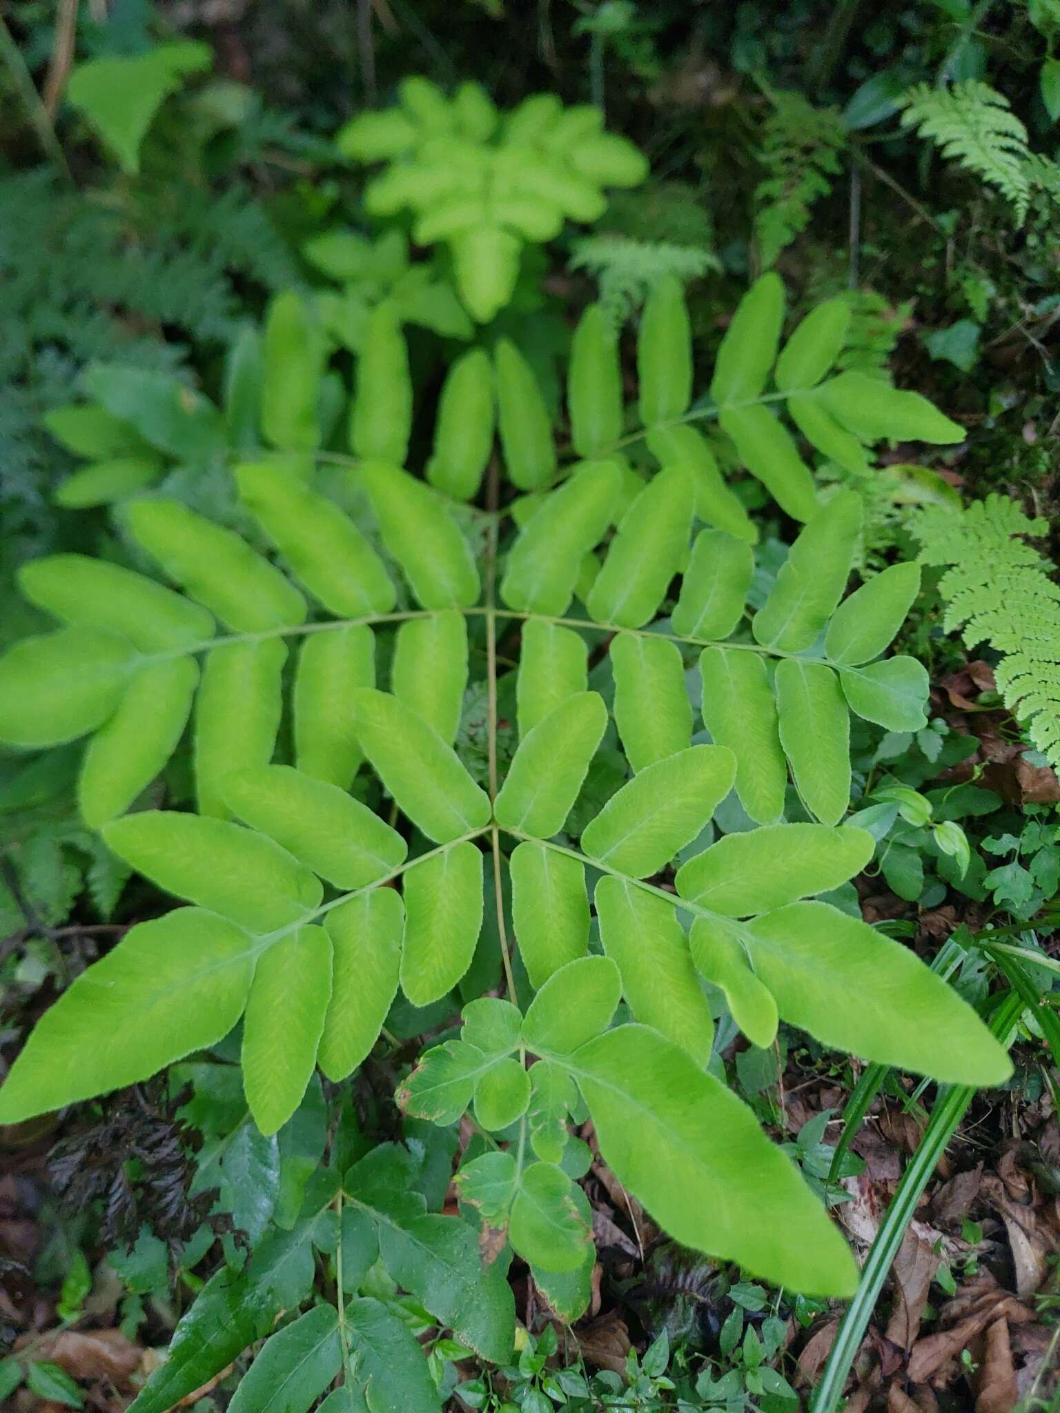
[{"label": "upper right leaflet of the dark green plant at the bottom", "polygon": [[379,1246],[394,1280],[459,1341],[496,1364],[512,1358],[516,1306],[507,1263],[483,1265],[466,1222],[435,1214],[380,1222]]}]

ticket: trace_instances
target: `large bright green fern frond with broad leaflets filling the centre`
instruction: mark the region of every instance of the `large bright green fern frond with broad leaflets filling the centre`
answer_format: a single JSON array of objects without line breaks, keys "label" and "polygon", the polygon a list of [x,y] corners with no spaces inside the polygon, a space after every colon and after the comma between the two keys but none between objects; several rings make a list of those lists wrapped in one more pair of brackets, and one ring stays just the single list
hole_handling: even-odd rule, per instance
[{"label": "large bright green fern frond with broad leaflets filling the centre", "polygon": [[[570,1133],[585,1118],[619,1180],[681,1242],[796,1289],[852,1290],[854,1260],[824,1208],[711,1071],[711,998],[758,1046],[783,1019],[943,1081],[996,1084],[1009,1061],[912,951],[817,900],[872,855],[868,832],[841,825],[849,712],[893,731],[924,722],[924,670],[881,656],[919,569],[896,565],[844,598],[859,502],[817,500],[770,408],[786,404],[808,441],[851,456],[882,437],[953,441],[960,430],[879,379],[828,376],[844,305],[813,311],[783,349],[782,315],[780,283],[766,276],[722,341],[709,401],[690,411],[680,288],[660,285],[644,309],[636,408],[623,407],[613,333],[589,308],[568,377],[572,461],[557,455],[519,350],[472,349],[442,391],[424,480],[401,466],[404,339],[376,308],[351,410],[355,455],[332,495],[304,415],[317,387],[297,370],[277,384],[285,411],[273,401],[267,414],[274,442],[285,417],[310,449],[235,469],[274,558],[141,495],[119,512],[130,551],[182,592],[78,555],[25,568],[25,595],[64,626],[0,663],[0,735],[27,747],[89,736],[85,820],[191,906],[131,928],[44,1016],[0,1089],[0,1122],[141,1080],[242,1016],[247,1102],[273,1133],[314,1067],[341,1081],[366,1058],[396,998],[442,1020],[462,1000],[462,1030],[421,1057],[399,1102],[441,1125],[471,1111],[465,1217],[481,1219],[497,1260],[529,1262],[563,1318],[591,1293],[575,1181],[585,1147]],[[495,406],[520,492],[503,504]],[[806,521],[749,620],[756,531],[694,418],[715,420]],[[654,472],[620,452],[642,439]],[[293,764],[273,762],[288,682],[281,759]],[[479,780],[464,749],[472,699],[485,715]],[[192,704],[199,812],[126,812]],[[711,842],[734,790],[755,827]],[[417,1222],[445,1219],[416,1202],[394,1210],[380,1193],[408,1154],[377,1153],[342,1180],[342,1201],[369,1212],[369,1248],[382,1243],[406,1283],[401,1242]],[[441,1294],[437,1282],[413,1289],[473,1344],[492,1283],[497,1356],[510,1348],[510,1293],[497,1294],[500,1267],[479,1263],[468,1222],[448,1221],[452,1234],[431,1241],[452,1246],[468,1300],[455,1308],[444,1282]],[[336,1361],[342,1320],[346,1341],[377,1352],[372,1304],[317,1307],[290,1330],[310,1321],[305,1337],[334,1344]],[[239,1330],[256,1338],[246,1320]],[[216,1354],[223,1365],[230,1345]],[[174,1368],[137,1413],[178,1396]]]}]

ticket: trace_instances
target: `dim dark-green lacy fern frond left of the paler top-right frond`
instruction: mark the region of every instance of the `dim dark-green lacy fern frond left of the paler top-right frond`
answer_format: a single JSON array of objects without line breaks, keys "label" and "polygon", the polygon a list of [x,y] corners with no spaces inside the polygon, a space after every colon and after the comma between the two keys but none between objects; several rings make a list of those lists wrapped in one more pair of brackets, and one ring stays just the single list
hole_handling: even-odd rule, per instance
[{"label": "dim dark-green lacy fern frond left of the paler top-right frond", "polygon": [[767,177],[755,189],[755,237],[762,264],[806,230],[810,212],[831,191],[847,130],[838,109],[814,107],[801,93],[775,93],[759,160]]}]

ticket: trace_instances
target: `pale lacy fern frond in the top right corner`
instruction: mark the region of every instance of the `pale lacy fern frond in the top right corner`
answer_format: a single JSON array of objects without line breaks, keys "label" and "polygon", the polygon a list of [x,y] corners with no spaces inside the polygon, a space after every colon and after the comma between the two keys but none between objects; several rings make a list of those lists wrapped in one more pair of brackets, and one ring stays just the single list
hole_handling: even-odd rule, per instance
[{"label": "pale lacy fern frond in the top right corner", "polygon": [[955,158],[995,187],[1023,223],[1039,164],[1027,148],[1027,130],[1003,93],[979,79],[961,79],[943,89],[917,83],[899,102],[903,127],[914,127],[943,157]]}]

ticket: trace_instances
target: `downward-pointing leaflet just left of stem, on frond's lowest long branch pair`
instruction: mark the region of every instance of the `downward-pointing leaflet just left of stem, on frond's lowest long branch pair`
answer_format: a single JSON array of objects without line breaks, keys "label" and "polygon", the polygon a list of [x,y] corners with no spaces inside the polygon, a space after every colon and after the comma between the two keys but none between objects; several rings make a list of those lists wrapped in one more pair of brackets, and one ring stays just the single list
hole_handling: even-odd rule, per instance
[{"label": "downward-pointing leaflet just left of stem, on frond's lowest long branch pair", "polygon": [[471,966],[482,927],[482,853],[454,844],[410,866],[404,876],[401,991],[428,1006]]}]

